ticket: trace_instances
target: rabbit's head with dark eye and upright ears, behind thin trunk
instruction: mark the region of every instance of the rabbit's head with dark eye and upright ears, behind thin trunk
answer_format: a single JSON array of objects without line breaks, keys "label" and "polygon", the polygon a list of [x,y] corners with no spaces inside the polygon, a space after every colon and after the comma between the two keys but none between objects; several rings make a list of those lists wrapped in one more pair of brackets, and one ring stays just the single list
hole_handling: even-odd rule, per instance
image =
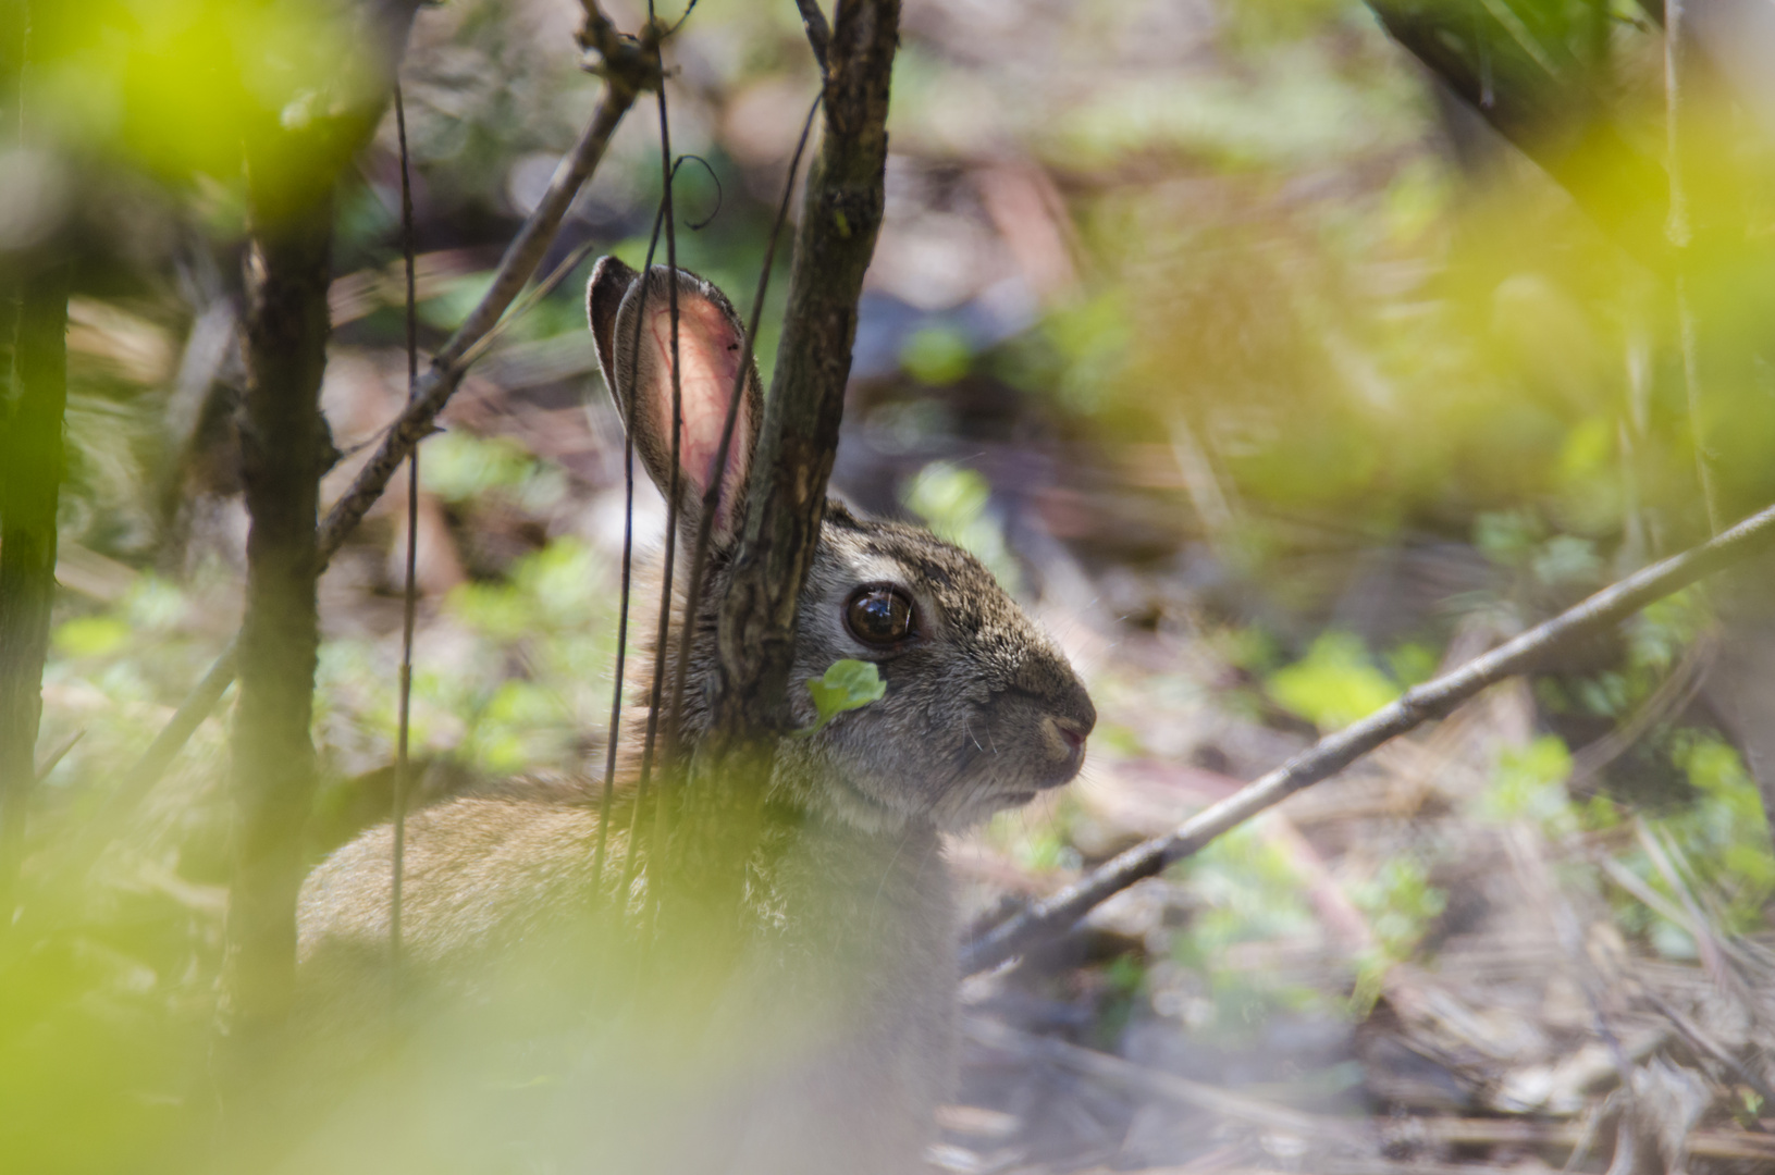
[{"label": "rabbit's head with dark eye and upright ears, behind thin trunk", "polygon": [[[742,328],[712,284],[678,273],[678,541],[689,552],[717,476],[721,433],[742,357]],[[648,280],[616,257],[588,289],[591,334],[618,412],[662,493],[671,463],[671,277]],[[637,343],[639,327],[639,343]],[[746,477],[763,422],[756,367],[746,373],[710,529],[710,561],[690,650],[683,729],[708,726],[715,614],[746,518]],[[685,566],[680,557],[678,566]],[[682,580],[682,573],[678,577]],[[925,529],[859,518],[827,502],[795,632],[801,726],[816,712],[804,682],[841,658],[875,662],[886,696],[786,740],[772,786],[781,799],[868,832],[911,822],[964,827],[1072,779],[1097,721],[1090,696],[1049,641],[967,552]]]}]

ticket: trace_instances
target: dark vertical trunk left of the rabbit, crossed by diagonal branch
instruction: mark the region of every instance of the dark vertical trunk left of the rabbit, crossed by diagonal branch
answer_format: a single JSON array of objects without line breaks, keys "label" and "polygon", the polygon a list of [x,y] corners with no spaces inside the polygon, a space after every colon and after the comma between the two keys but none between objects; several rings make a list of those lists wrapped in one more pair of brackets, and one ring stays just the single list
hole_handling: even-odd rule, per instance
[{"label": "dark vertical trunk left of the rabbit, crossed by diagonal branch", "polygon": [[[291,192],[275,169],[248,172],[247,367],[241,479],[247,618],[234,715],[234,875],[227,964],[233,1028],[275,1033],[296,964],[302,827],[314,793],[316,506],[330,444],[320,412],[327,364],[330,185]],[[300,185],[300,179],[296,181]]]}]

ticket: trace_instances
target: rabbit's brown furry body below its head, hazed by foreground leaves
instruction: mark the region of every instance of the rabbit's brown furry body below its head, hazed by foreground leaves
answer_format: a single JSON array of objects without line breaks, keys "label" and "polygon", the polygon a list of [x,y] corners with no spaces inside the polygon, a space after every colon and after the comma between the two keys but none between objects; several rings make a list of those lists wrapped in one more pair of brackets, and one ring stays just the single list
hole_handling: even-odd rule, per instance
[{"label": "rabbit's brown furry body below its head, hazed by foreground leaves", "polygon": [[[678,944],[690,983],[664,994],[637,990],[648,868],[637,863],[616,912],[625,824],[612,825],[598,884],[598,816],[586,804],[474,797],[408,822],[406,998],[419,1033],[449,1042],[460,1067],[454,1079],[421,1077],[430,1100],[474,1104],[444,1115],[460,1148],[506,1129],[469,1088],[534,1083],[536,1097],[570,1109],[547,1115],[524,1145],[573,1166],[916,1170],[909,1157],[953,1065],[953,916],[935,832],[882,838],[801,818],[767,827],[737,962],[699,989],[698,955]],[[302,889],[309,1019],[335,1040],[385,1022],[390,879],[383,825]],[[703,1008],[689,1035],[685,1005]],[[627,1076],[612,1084],[612,1070]]]}]

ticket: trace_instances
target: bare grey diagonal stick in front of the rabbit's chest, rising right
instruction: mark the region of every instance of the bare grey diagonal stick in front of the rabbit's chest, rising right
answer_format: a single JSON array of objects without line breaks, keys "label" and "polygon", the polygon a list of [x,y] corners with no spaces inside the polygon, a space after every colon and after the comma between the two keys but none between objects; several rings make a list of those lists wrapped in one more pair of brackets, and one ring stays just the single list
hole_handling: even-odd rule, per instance
[{"label": "bare grey diagonal stick in front of the rabbit's chest, rising right", "polygon": [[1257,783],[1196,813],[1175,831],[1129,848],[1054,896],[974,939],[962,951],[962,974],[973,974],[1021,955],[1031,944],[1063,932],[1111,895],[1191,856],[1266,808],[1335,776],[1369,751],[1418,724],[1447,715],[1487,685],[1532,669],[1555,646],[1617,625],[1647,603],[1740,563],[1770,547],[1771,541],[1775,541],[1775,506],[1745,518],[1699,547],[1635,572],[1553,619],[1475,657],[1454,673],[1411,687],[1399,701],[1383,706],[1354,726],[1321,738]]}]

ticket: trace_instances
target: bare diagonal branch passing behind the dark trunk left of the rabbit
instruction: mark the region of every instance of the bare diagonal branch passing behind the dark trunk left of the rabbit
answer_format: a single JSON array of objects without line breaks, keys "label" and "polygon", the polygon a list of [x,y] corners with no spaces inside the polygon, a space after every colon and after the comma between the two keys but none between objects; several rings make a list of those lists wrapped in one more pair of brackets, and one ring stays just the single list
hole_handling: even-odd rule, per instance
[{"label": "bare diagonal branch passing behind the dark trunk left of the rabbit", "polygon": [[[586,34],[582,34],[582,41],[584,37]],[[431,433],[438,412],[444,410],[444,405],[467,373],[469,360],[472,359],[469,350],[493,328],[499,316],[524,288],[524,282],[541,264],[543,254],[548,250],[556,229],[561,225],[561,218],[604,158],[611,135],[634,105],[635,94],[657,83],[659,59],[653,53],[651,41],[644,39],[637,46],[637,43],[616,37],[612,32],[609,43],[611,50],[604,57],[604,98],[586,133],[580,135],[573,151],[561,160],[561,167],[548,183],[548,192],[543,193],[536,211],[529,215],[518,236],[506,250],[493,284],[479,305],[476,305],[463,325],[456,328],[456,334],[444,344],[444,350],[431,360],[431,369],[421,376],[414,398],[389,428],[369,463],[359,470],[351,488],[327,511],[327,520],[321,524],[320,532],[320,564],[323,570],[334,554],[337,554],[346,536],[357,529],[357,524],[364,520],[369,508],[389,488],[394,470],[406,460],[406,454]],[[234,646],[231,644],[209,667],[202,682],[179,703],[172,721],[154,737],[154,742],[149,744],[149,749],[135,763],[114,806],[128,809],[154,786],[172,758],[197,726],[202,724],[204,717],[209,715],[217,701],[222,699],[233,680]]]}]

